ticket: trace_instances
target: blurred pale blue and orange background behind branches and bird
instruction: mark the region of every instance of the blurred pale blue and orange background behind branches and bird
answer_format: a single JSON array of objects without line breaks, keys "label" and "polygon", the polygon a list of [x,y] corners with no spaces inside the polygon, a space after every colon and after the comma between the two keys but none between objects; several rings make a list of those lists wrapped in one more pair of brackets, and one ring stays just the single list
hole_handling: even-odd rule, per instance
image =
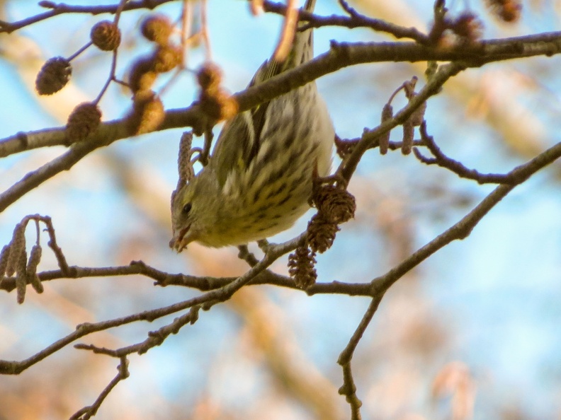
[{"label": "blurred pale blue and orange background behind branches and bird", "polygon": [[[82,1],[73,4],[113,4]],[[199,4],[195,3],[195,10]],[[365,15],[426,30],[432,2],[351,1]],[[561,2],[523,1],[521,19],[506,24],[481,1],[450,1],[484,23],[483,37],[510,37],[560,28]],[[40,13],[36,1],[0,1],[0,18]],[[172,20],[181,2],[157,8]],[[335,0],[316,12],[343,14]],[[123,13],[118,76],[152,48],[139,35],[149,11]],[[0,138],[60,127],[78,103],[93,100],[108,75],[111,54],[90,48],[75,59],[72,81],[49,98],[34,92],[46,59],[68,57],[89,40],[91,26],[111,16],[64,15],[0,36]],[[195,28],[200,22],[194,21]],[[212,60],[229,91],[242,90],[273,51],[282,19],[254,17],[245,1],[208,2]],[[370,30],[320,28],[315,52],[329,40],[391,40]],[[188,66],[205,59],[190,49]],[[431,98],[429,133],[443,151],[469,168],[502,173],[559,141],[559,57],[533,58],[469,69]],[[360,136],[380,121],[380,110],[423,64],[353,66],[317,81],[336,132]],[[166,83],[166,78],[162,78]],[[187,71],[167,88],[166,109],[197,97]],[[395,109],[404,105],[394,103]],[[130,95],[111,85],[101,101],[103,120],[123,117]],[[220,127],[215,128],[217,133]],[[0,245],[28,214],[52,217],[69,264],[107,267],[142,259],[166,272],[232,276],[246,270],[237,249],[169,247],[169,196],[176,185],[181,130],[118,141],[87,156],[0,214]],[[400,130],[392,133],[399,141]],[[64,148],[45,148],[0,160],[4,191]],[[338,163],[338,161],[336,161]],[[517,187],[470,237],[433,255],[397,282],[358,345],[353,360],[363,418],[561,419],[561,166],[550,165]],[[370,281],[462,218],[492,190],[426,167],[399,152],[369,151],[349,190],[356,218],[342,226],[334,247],[317,258],[318,281]],[[311,214],[311,213],[310,213]],[[310,215],[273,241],[305,229]],[[29,234],[33,229],[28,229]],[[28,237],[33,240],[33,235]],[[40,271],[55,269],[46,247]],[[250,249],[256,252],[255,244]],[[286,274],[287,258],[273,265]],[[0,358],[21,360],[60,339],[80,322],[109,320],[183,301],[198,292],[154,287],[141,276],[56,280],[45,293],[0,293]],[[366,298],[313,296],[272,286],[251,286],[225,304],[200,313],[195,325],[142,356],[130,357],[130,378],[98,412],[100,419],[346,419],[337,394],[337,357],[356,329]],[[173,317],[85,337],[79,342],[117,348],[140,342]],[[89,405],[113,378],[118,361],[68,346],[18,376],[0,377],[0,419],[64,419]]]}]

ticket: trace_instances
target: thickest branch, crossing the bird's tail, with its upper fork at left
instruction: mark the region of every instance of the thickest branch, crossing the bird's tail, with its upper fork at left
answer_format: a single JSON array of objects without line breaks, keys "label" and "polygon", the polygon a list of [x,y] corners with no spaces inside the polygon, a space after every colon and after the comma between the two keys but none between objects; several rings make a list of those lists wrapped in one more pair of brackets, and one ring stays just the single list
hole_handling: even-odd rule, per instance
[{"label": "thickest branch, crossing the bird's tail, with its upper fork at left", "polygon": [[[304,86],[315,79],[333,73],[346,66],[374,62],[419,62],[419,61],[460,61],[463,66],[480,66],[485,63],[534,57],[538,55],[558,54],[561,50],[561,32],[528,35],[525,37],[511,37],[503,40],[487,40],[470,47],[456,49],[438,49],[416,45],[414,42],[370,42],[370,43],[332,43],[329,52],[298,66],[296,69],[285,71],[265,83],[252,86],[234,94],[239,103],[239,112],[251,109],[261,103],[276,98],[299,86]],[[159,130],[196,127],[198,133],[203,133],[205,118],[199,107],[169,110],[166,119]],[[115,120],[101,124],[98,132],[91,135],[89,142],[111,144],[123,139],[128,133],[117,127],[124,124],[123,120]],[[115,136],[118,134],[118,137]],[[18,133],[0,140],[0,157],[13,153],[45,146],[67,145],[64,129],[45,129],[36,132]]]}]

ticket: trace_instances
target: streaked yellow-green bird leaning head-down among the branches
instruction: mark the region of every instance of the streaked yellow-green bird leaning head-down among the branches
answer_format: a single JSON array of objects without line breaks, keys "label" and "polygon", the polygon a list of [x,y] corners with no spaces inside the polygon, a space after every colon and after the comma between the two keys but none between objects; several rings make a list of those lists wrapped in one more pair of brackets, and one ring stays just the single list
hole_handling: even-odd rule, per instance
[{"label": "streaked yellow-green bird leaning head-down among the branches", "polygon": [[[315,0],[308,0],[312,10]],[[263,63],[261,83],[312,57],[312,30],[295,35],[285,62]],[[315,83],[242,112],[222,129],[210,161],[179,189],[172,205],[174,239],[240,245],[284,231],[309,209],[314,176],[331,166],[334,129]]]}]

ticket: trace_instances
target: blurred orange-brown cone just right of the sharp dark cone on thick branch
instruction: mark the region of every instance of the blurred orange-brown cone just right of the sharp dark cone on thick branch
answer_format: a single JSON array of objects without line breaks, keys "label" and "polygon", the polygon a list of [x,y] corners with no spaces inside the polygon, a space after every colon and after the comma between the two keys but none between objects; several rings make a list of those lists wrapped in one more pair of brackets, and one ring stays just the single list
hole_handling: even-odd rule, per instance
[{"label": "blurred orange-brown cone just right of the sharp dark cone on thick branch", "polygon": [[135,93],[132,112],[128,116],[128,126],[132,134],[146,134],[157,129],[166,113],[162,100],[153,91]]}]

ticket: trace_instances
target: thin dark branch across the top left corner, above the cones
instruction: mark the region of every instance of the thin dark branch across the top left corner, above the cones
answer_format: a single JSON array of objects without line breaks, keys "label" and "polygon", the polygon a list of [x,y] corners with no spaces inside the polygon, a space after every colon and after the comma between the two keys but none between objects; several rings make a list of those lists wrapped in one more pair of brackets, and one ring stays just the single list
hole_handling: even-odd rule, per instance
[{"label": "thin dark branch across the top left corner, above the cones", "polygon": [[[125,4],[123,10],[137,10],[140,8],[154,9],[158,6],[169,3],[174,0],[137,0],[128,1]],[[35,16],[30,16],[29,18],[22,19],[16,22],[4,22],[0,21],[0,33],[12,33],[15,30],[25,28],[26,26],[33,25],[33,23],[38,23],[45,21],[46,19],[52,18],[54,16],[66,14],[66,13],[87,13],[91,15],[99,15],[103,13],[117,13],[120,4],[111,4],[106,6],[72,6],[69,4],[60,3],[57,4],[53,1],[41,1],[40,6],[44,8],[50,8],[50,11],[44,13],[39,13]]]}]

